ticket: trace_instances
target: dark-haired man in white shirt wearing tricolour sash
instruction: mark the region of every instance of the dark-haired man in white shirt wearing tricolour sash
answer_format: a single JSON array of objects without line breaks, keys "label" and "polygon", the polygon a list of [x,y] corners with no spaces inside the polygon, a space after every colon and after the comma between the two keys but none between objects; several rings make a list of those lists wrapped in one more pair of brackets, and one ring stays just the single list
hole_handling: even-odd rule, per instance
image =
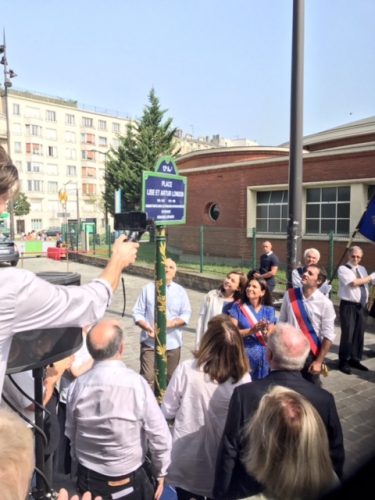
[{"label": "dark-haired man in white shirt wearing tricolour sash", "polygon": [[[325,269],[312,264],[303,273],[300,288],[289,289],[283,298],[279,320],[300,330],[310,343],[302,376],[320,385],[319,374],[335,333],[335,310],[332,302],[319,288],[327,279]],[[324,369],[324,368],[323,368]]]}]

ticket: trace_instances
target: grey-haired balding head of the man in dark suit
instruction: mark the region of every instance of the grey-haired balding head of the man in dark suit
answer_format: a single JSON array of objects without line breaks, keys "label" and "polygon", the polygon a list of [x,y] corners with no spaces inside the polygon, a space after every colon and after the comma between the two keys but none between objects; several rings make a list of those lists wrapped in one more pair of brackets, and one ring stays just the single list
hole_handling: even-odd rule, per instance
[{"label": "grey-haired balding head of the man in dark suit", "polygon": [[277,323],[268,337],[267,348],[272,353],[273,370],[301,371],[310,352],[305,335],[289,323]]}]

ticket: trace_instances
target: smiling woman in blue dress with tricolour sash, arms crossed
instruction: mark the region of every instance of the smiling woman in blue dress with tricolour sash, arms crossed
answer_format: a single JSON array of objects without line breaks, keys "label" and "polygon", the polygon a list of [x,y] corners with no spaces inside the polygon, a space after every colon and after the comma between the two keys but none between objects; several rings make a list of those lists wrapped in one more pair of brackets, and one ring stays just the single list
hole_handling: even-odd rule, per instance
[{"label": "smiling woman in blue dress with tricolour sash, arms crossed", "polygon": [[266,340],[276,323],[267,282],[263,278],[249,280],[243,297],[233,304],[229,316],[243,337],[252,380],[266,377],[270,371],[266,360]]}]

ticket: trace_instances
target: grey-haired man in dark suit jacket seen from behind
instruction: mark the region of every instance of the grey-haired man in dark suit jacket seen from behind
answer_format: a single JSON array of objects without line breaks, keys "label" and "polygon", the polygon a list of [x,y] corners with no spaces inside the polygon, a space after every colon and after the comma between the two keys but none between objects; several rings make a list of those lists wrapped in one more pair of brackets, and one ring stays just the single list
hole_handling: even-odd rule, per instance
[{"label": "grey-haired man in dark suit jacket seen from behind", "polygon": [[264,488],[248,475],[241,462],[242,429],[257,410],[264,394],[275,385],[305,396],[318,411],[327,429],[333,469],[342,476],[345,452],[335,400],[328,391],[302,378],[310,346],[307,338],[287,323],[276,325],[267,343],[271,373],[262,380],[237,387],[232,395],[216,462],[214,498],[235,500],[256,495]]}]

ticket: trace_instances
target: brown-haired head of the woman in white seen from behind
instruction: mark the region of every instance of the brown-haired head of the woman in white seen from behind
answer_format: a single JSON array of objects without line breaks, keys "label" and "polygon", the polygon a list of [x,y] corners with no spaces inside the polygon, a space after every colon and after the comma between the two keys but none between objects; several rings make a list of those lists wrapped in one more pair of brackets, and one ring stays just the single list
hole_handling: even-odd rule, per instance
[{"label": "brown-haired head of the woman in white seen from behind", "polygon": [[219,384],[230,378],[236,383],[250,371],[241,334],[223,314],[211,318],[194,357],[198,367]]}]

